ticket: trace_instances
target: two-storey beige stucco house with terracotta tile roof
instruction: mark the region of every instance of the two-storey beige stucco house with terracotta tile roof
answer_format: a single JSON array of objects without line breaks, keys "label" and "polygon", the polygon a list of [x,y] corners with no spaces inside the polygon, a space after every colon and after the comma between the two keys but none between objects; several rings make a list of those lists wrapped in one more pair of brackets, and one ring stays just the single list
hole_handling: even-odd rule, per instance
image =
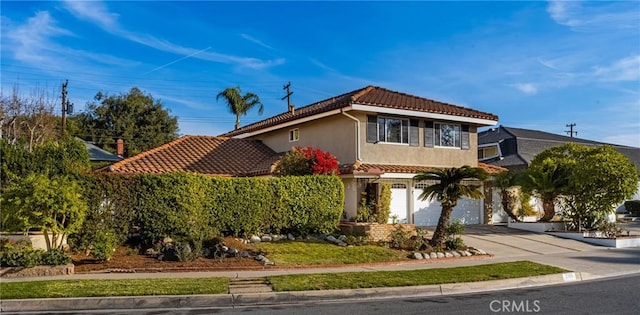
[{"label": "two-storey beige stucco house with terracotta tile roof", "polygon": [[[423,97],[368,86],[227,132],[219,137],[184,136],[117,162],[112,172],[187,171],[216,176],[269,176],[292,147],[312,146],[341,162],[344,218],[355,217],[361,193],[391,185],[391,214],[399,222],[433,226],[437,202],[418,196],[433,183],[413,177],[433,168],[499,166],[478,163],[477,129],[496,115]],[[466,224],[487,222],[483,200],[461,200],[453,217]]]}]

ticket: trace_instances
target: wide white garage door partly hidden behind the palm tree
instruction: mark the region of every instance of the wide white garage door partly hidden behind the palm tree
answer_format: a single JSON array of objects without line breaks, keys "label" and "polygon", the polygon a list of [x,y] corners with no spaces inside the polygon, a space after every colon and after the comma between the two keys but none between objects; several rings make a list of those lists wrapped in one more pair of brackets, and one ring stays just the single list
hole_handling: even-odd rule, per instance
[{"label": "wide white garage door partly hidden behind the palm tree", "polygon": [[[416,185],[413,189],[414,198],[414,223],[416,226],[438,225],[442,206],[438,201],[422,201],[418,197],[423,191],[422,184]],[[458,200],[458,205],[453,208],[451,219],[458,219],[463,224],[480,224],[482,216],[482,200],[463,198]]]}]

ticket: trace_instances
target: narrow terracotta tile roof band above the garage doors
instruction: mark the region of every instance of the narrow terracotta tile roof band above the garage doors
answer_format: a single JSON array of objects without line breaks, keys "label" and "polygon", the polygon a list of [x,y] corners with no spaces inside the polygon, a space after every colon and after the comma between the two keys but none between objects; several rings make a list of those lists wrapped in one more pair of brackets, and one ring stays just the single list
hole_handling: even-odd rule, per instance
[{"label": "narrow terracotta tile roof band above the garage doors", "polygon": [[[485,170],[489,174],[498,174],[506,172],[507,169],[500,166],[489,165],[485,163],[478,163],[478,167]],[[389,164],[350,164],[342,165],[340,167],[341,174],[354,174],[354,175],[381,175],[385,173],[405,173],[405,174],[417,174],[420,172],[427,172],[435,169],[430,166],[419,165],[389,165]]]}]

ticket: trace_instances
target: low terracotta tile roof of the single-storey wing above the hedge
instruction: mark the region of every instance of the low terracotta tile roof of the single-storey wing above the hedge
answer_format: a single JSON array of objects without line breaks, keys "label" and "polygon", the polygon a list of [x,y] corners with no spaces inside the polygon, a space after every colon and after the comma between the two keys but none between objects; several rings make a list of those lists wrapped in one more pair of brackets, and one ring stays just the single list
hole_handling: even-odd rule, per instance
[{"label": "low terracotta tile roof of the single-storey wing above the hedge", "polygon": [[209,136],[183,136],[102,169],[125,174],[188,172],[212,176],[271,173],[279,155],[262,142]]}]

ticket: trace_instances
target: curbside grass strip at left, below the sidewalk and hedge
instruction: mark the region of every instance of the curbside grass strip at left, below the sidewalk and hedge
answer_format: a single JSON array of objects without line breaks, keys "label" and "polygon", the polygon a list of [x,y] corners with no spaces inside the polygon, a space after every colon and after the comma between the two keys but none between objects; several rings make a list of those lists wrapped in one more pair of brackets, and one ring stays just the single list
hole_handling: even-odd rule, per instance
[{"label": "curbside grass strip at left, below the sidewalk and hedge", "polygon": [[0,283],[0,299],[224,294],[228,278],[47,280]]}]

